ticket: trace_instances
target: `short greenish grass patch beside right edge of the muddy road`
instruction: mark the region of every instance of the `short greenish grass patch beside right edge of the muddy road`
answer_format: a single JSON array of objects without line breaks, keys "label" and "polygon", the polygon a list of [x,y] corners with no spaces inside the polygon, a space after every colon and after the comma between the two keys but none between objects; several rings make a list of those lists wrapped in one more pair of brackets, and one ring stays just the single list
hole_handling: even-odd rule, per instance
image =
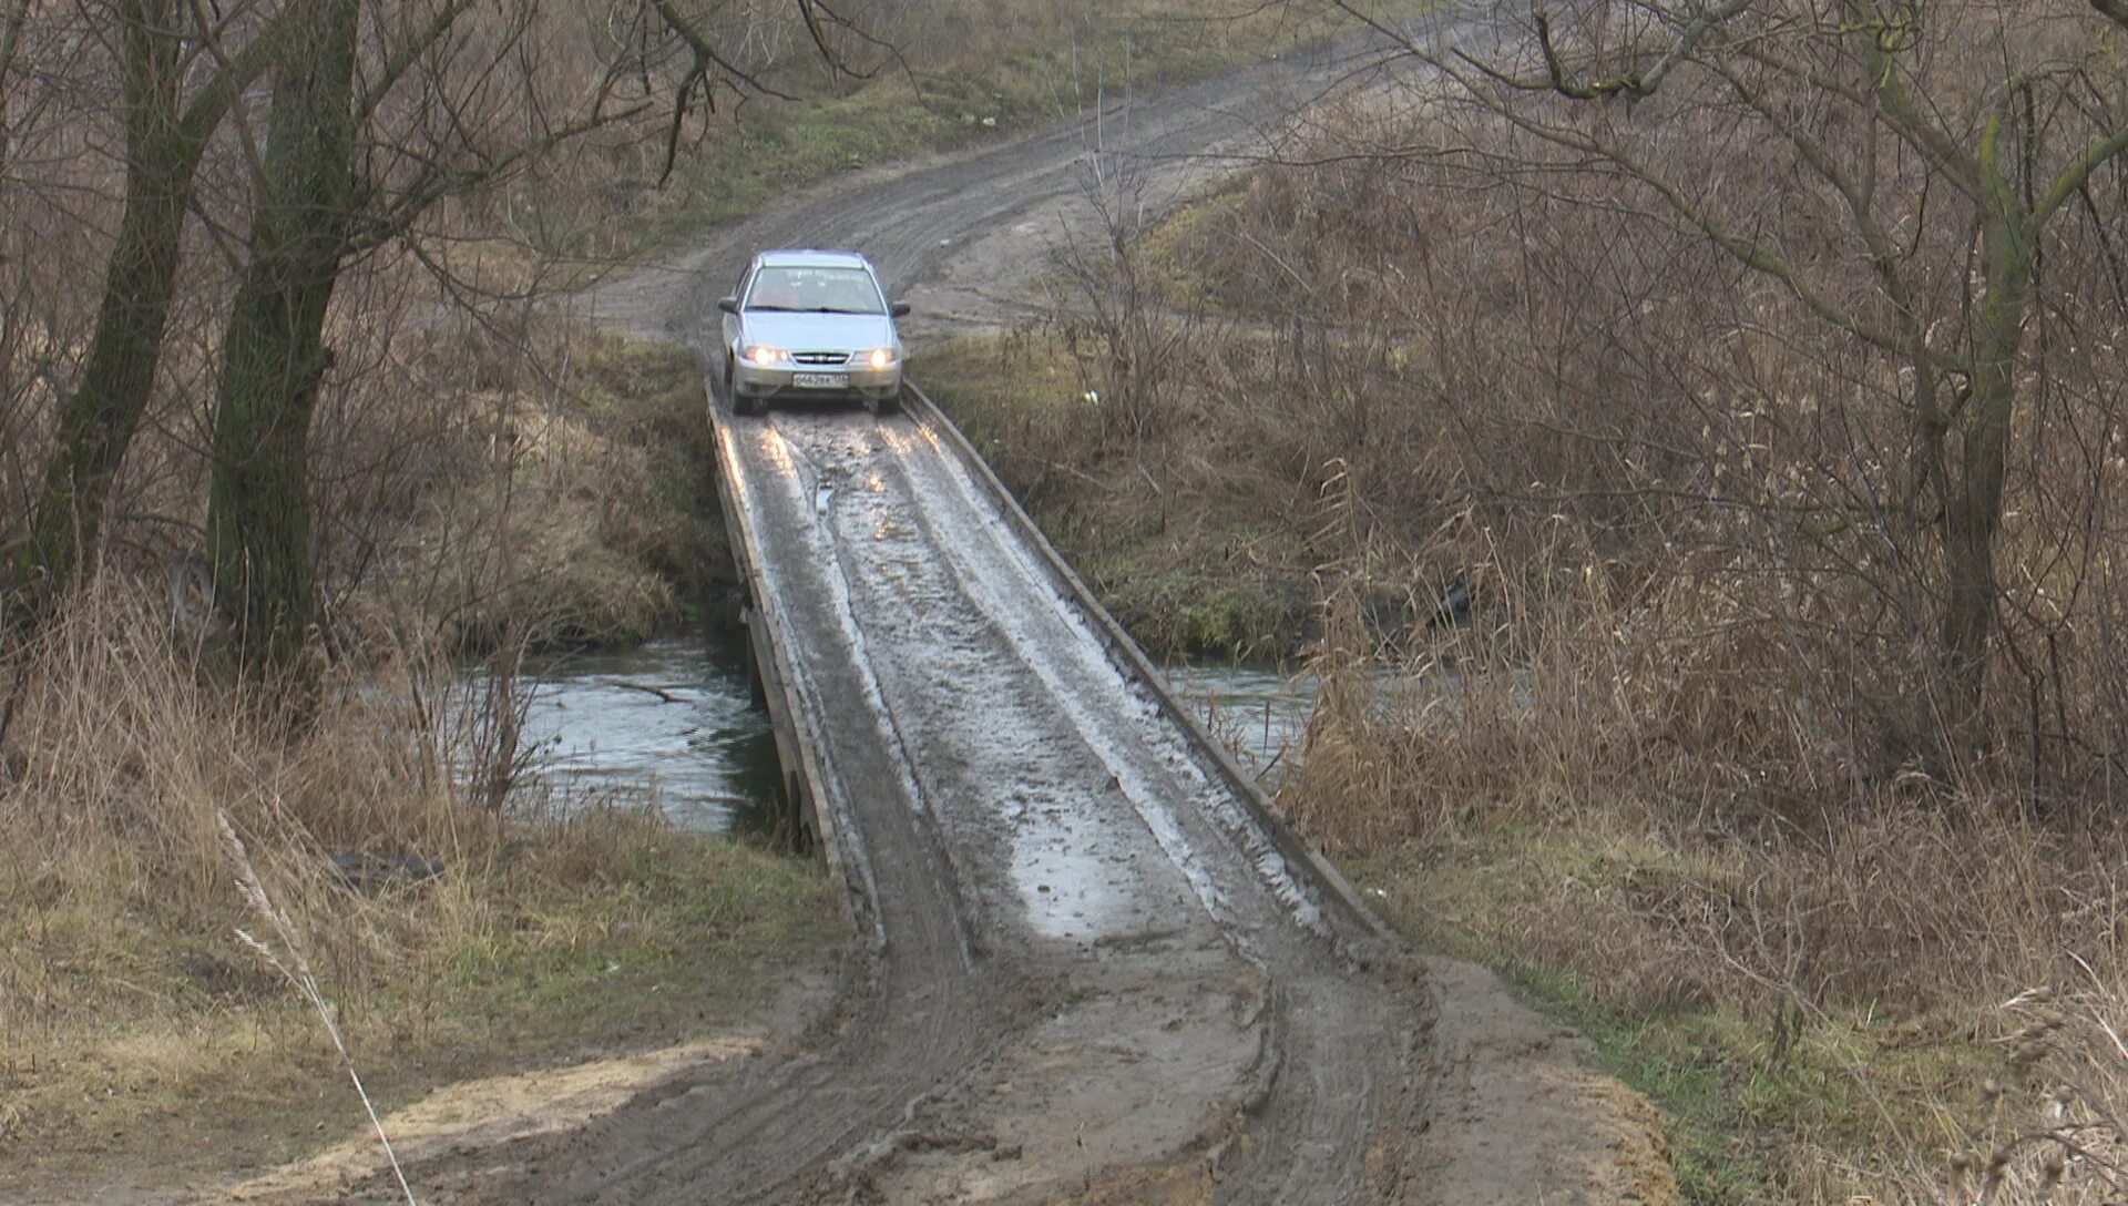
[{"label": "short greenish grass patch beside right edge of the muddy road", "polygon": [[1585,1034],[1662,1110],[1688,1202],[1849,1202],[1926,1163],[1951,1138],[1945,1102],[1977,1102],[2000,1053],[1945,1017],[1805,1017],[1677,976],[1664,923],[1605,900],[1688,864],[1609,834],[1498,827],[1345,870],[1413,944],[1500,972]]}]

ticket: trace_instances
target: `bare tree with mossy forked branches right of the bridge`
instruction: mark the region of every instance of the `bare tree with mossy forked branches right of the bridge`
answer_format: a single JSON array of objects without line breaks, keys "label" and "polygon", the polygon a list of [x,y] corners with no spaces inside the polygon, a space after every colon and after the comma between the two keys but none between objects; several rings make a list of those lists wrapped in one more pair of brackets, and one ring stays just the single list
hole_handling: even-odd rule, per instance
[{"label": "bare tree with mossy forked branches right of the bridge", "polygon": [[[2062,321],[2068,294],[2047,259],[2077,238],[2119,283],[2092,183],[2128,151],[2128,77],[2107,36],[2122,30],[2111,0],[1585,0],[1532,11],[1502,53],[1402,38],[1464,100],[1551,149],[1498,170],[1617,179],[1896,374],[1907,481],[1877,515],[1936,549],[1956,749],[1988,727],[2028,340]],[[1794,187],[1732,187],[1724,162]]]}]

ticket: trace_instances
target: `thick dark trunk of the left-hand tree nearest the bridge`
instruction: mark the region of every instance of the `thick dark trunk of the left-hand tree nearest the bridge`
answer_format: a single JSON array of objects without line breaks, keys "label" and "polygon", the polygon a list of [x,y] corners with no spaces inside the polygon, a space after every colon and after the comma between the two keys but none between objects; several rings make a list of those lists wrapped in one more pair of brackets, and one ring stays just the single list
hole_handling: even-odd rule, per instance
[{"label": "thick dark trunk of the left-hand tree nearest the bridge", "polygon": [[221,345],[206,542],[253,672],[302,674],[313,619],[309,438],[347,253],[358,0],[313,0],[275,66],[251,257]]}]

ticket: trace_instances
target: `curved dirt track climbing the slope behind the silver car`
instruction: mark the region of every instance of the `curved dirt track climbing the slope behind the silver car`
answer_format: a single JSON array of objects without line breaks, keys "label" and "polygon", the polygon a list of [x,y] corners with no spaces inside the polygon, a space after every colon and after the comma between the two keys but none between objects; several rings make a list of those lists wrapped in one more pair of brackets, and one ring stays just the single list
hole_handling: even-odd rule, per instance
[{"label": "curved dirt track climbing the slope behind the silver car", "polygon": [[[1419,40],[1473,43],[1492,23],[1483,4],[1449,6],[1407,23]],[[583,294],[583,313],[647,338],[715,342],[717,298],[768,247],[864,251],[887,285],[915,302],[902,336],[921,347],[968,325],[1007,325],[1030,313],[1026,285],[1066,232],[1094,211],[1098,157],[1111,202],[1160,215],[1207,181],[1275,157],[1307,104],[1411,70],[1377,34],[1290,51],[1175,91],[1087,96],[1079,121],[1017,143],[896,168],[851,172],[753,219],[706,234],[681,255],[624,272]]]}]

